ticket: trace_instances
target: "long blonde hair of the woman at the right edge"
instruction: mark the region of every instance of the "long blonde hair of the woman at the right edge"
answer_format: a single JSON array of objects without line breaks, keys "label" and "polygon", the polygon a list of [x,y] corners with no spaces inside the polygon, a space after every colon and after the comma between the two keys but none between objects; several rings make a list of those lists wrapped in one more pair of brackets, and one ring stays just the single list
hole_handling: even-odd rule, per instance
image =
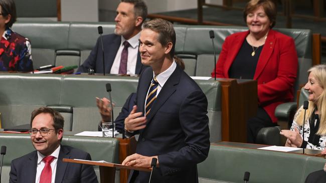
[{"label": "long blonde hair of the woman at the right edge", "polygon": [[[317,108],[319,111],[319,129],[316,134],[318,135],[323,135],[326,134],[326,93],[325,93],[325,86],[326,86],[326,65],[325,64],[320,64],[320,65],[315,65],[311,68],[309,68],[308,73],[312,74],[314,78],[316,79],[317,83],[319,86],[323,89],[321,94],[317,98],[317,104],[315,104],[313,101],[309,101],[309,106],[306,111],[306,116],[311,116],[312,111]],[[304,112],[303,107],[301,106],[298,114],[294,116],[294,120],[296,123],[299,125],[303,124],[303,116]],[[308,117],[306,117],[308,118]]]}]

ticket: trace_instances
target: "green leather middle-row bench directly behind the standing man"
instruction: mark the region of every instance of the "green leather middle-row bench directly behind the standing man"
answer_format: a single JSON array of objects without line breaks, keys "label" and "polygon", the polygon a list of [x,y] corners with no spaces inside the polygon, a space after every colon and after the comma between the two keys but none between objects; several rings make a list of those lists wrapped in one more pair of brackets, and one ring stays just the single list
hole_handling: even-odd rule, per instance
[{"label": "green leather middle-row bench directly behind the standing man", "polygon": [[[211,141],[221,140],[221,89],[214,80],[196,80],[208,99]],[[31,112],[51,106],[66,120],[64,129],[97,130],[101,117],[95,97],[108,97],[106,83],[111,83],[114,117],[126,98],[135,92],[138,77],[100,75],[61,75],[0,73],[0,112],[3,128],[30,123]]]}]

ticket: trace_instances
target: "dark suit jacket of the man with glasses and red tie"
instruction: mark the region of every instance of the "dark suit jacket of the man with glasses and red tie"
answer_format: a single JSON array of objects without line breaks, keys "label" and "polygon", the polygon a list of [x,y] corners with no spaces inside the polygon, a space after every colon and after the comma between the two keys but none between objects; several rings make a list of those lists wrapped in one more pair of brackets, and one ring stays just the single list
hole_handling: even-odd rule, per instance
[{"label": "dark suit jacket of the man with glasses and red tie", "polygon": [[[63,162],[62,158],[77,158],[91,160],[89,153],[61,145],[55,183],[59,182],[98,182],[93,166],[88,164]],[[11,163],[10,183],[35,183],[37,168],[37,151],[33,151],[22,157],[14,159]]]}]

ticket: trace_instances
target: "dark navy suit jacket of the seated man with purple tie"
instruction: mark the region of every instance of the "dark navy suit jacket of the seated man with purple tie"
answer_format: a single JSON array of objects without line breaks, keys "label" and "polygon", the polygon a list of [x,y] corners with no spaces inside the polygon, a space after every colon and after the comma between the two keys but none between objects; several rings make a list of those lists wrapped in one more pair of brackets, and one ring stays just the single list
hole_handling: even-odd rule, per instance
[{"label": "dark navy suit jacket of the seated man with purple tie", "polygon": [[[110,73],[115,55],[121,44],[121,35],[114,33],[102,36],[105,58],[105,73]],[[96,45],[93,47],[91,53],[78,67],[79,72],[88,72],[88,68],[93,68],[96,73],[103,73],[103,56],[100,37],[97,38]],[[135,74],[140,74],[145,68],[141,64],[140,53],[138,51]]]}]

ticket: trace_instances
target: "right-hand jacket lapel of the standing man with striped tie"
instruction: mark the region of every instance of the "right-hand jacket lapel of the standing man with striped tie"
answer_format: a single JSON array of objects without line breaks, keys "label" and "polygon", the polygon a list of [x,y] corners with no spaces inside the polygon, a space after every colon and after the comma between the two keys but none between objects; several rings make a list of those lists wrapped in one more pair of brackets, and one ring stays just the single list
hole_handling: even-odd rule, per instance
[{"label": "right-hand jacket lapel of the standing man with striped tie", "polygon": [[151,118],[155,115],[157,110],[167,101],[167,99],[176,91],[176,86],[180,81],[181,68],[177,65],[175,71],[171,74],[167,82],[159,91],[154,103],[151,106],[150,112],[147,115],[147,124]]}]

